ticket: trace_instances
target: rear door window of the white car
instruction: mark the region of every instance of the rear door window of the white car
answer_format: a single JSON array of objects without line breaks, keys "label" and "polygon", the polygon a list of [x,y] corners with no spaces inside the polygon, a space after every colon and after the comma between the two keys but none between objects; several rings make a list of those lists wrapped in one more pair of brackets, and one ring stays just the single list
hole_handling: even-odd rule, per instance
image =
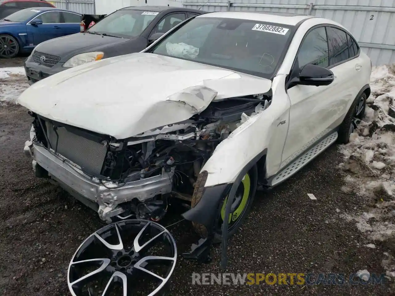
[{"label": "rear door window of the white car", "polygon": [[[329,44],[329,65],[338,64],[350,58],[347,33],[337,28],[327,27]],[[352,56],[354,56],[353,54]],[[351,57],[352,57],[351,56]]]}]

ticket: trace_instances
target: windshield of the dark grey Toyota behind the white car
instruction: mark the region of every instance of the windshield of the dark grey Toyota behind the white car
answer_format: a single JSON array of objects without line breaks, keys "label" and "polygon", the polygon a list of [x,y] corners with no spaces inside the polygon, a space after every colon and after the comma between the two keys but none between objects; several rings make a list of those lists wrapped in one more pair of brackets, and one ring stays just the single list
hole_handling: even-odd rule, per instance
[{"label": "windshield of the dark grey Toyota behind the white car", "polygon": [[154,11],[118,10],[87,31],[126,38],[137,37],[158,14],[159,12]]}]

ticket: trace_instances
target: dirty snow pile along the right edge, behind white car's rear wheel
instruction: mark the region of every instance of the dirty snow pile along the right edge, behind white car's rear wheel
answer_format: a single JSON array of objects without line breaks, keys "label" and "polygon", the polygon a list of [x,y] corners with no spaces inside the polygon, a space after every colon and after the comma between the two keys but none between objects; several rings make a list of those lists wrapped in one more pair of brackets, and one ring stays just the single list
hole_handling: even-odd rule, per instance
[{"label": "dirty snow pile along the right edge, behind white car's rear wheel", "polygon": [[[371,96],[365,117],[350,136],[350,143],[340,146],[346,173],[344,192],[355,192],[365,204],[360,215],[343,215],[355,221],[370,240],[395,239],[395,64],[374,67]],[[367,245],[368,246],[368,245]],[[373,244],[369,244],[373,246]],[[383,261],[387,275],[395,276],[391,258]]]}]

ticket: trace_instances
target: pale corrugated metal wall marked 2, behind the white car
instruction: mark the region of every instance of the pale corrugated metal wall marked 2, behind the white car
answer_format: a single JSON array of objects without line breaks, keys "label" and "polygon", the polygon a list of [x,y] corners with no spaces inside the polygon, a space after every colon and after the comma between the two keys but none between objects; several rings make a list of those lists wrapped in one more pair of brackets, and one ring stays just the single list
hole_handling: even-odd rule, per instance
[{"label": "pale corrugated metal wall marked 2, behind the white car", "polygon": [[395,62],[394,0],[184,0],[205,11],[268,11],[325,17],[345,26],[374,65]]}]

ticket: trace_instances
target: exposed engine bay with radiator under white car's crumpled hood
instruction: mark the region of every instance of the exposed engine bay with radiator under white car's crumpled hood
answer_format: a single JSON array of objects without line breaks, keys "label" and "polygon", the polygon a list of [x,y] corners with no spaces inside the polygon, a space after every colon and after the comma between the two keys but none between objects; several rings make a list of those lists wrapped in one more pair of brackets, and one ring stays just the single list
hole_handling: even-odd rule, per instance
[{"label": "exposed engine bay with radiator under white car's crumpled hood", "polygon": [[[45,147],[90,182],[100,184],[95,202],[103,220],[113,221],[109,218],[116,216],[159,221],[167,212],[170,198],[191,201],[196,178],[216,146],[270,103],[271,92],[213,101],[189,120],[124,140],[30,114],[35,118],[34,144]],[[44,177],[53,178],[47,173],[44,170]],[[160,190],[151,186],[153,181],[139,183],[154,178],[162,178]],[[144,194],[136,191],[120,198],[111,193],[137,185],[142,186],[140,190],[147,187]]]}]

